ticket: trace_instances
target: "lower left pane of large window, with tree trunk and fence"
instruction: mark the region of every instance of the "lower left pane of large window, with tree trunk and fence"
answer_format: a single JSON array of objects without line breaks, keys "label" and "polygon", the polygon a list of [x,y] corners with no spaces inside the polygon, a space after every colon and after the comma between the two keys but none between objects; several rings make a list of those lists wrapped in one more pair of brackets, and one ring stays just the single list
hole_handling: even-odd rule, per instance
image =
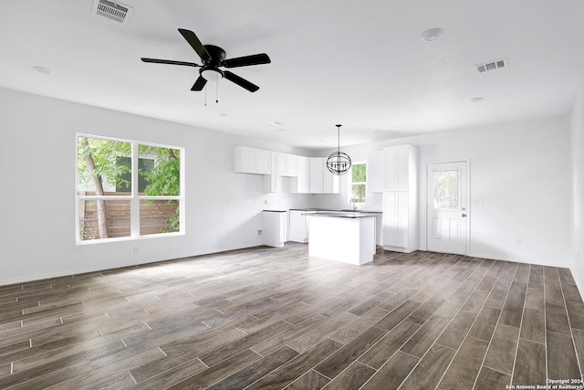
[{"label": "lower left pane of large window, with tree trunk and fence", "polygon": [[79,201],[79,237],[81,241],[130,237],[130,201]]}]

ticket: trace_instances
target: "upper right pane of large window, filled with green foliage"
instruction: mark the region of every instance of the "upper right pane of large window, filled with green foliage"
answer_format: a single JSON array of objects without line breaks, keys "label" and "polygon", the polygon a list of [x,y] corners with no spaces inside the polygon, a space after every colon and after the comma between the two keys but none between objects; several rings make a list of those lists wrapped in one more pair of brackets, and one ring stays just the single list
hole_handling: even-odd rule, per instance
[{"label": "upper right pane of large window, filled with green foliage", "polygon": [[[159,146],[138,145],[139,175],[144,195],[181,195],[181,151]],[[142,163],[140,163],[140,161]]]}]

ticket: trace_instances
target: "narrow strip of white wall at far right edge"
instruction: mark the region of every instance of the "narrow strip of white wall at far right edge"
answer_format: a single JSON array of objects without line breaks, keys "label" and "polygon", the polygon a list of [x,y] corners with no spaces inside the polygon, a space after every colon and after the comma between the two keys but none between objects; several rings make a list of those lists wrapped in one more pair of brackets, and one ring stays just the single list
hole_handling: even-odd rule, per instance
[{"label": "narrow strip of white wall at far right edge", "polygon": [[570,117],[572,145],[572,230],[571,269],[579,290],[584,293],[584,84],[574,100]]}]

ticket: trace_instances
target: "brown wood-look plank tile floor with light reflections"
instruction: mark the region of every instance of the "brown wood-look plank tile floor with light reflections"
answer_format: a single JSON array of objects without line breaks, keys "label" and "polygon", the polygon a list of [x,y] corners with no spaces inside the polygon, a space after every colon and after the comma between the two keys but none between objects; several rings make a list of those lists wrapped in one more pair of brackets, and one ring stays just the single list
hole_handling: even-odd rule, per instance
[{"label": "brown wood-look plank tile floor with light reflections", "polygon": [[554,267],[288,243],[0,287],[0,388],[494,390],[583,363]]}]

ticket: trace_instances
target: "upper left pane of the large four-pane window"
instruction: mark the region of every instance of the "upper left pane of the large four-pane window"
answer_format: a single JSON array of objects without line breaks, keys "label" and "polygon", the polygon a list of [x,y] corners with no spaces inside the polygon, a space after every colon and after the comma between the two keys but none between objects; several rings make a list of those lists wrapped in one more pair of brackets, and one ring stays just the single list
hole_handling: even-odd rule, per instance
[{"label": "upper left pane of the large four-pane window", "polygon": [[78,137],[78,195],[130,195],[130,155],[130,142]]}]

